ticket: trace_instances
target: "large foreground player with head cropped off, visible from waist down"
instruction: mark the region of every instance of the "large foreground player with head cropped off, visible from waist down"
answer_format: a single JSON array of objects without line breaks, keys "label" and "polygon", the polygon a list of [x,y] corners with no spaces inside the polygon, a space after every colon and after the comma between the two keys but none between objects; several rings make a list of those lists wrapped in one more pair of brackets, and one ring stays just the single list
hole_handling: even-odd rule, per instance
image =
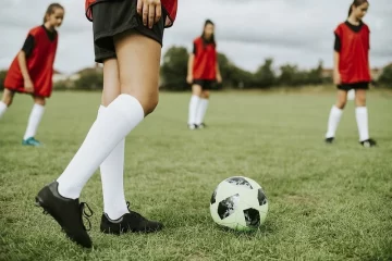
[{"label": "large foreground player with head cropped off, visible from waist down", "polygon": [[108,234],[156,232],[159,222],[130,211],[124,196],[125,136],[158,104],[158,80],[164,27],[171,26],[176,1],[86,0],[93,21],[95,60],[103,63],[103,94],[98,116],[79,150],[61,176],[36,197],[71,240],[90,248],[82,221],[83,187],[101,166],[103,214],[100,231]]}]

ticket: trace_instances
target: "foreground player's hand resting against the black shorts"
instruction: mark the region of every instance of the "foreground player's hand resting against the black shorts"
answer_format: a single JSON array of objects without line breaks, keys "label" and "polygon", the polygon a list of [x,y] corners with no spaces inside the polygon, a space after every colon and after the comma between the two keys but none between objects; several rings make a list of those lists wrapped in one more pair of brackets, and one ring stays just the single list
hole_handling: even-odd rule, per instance
[{"label": "foreground player's hand resting against the black shorts", "polygon": [[143,24],[152,28],[162,16],[160,0],[137,0],[137,13],[143,17]]}]

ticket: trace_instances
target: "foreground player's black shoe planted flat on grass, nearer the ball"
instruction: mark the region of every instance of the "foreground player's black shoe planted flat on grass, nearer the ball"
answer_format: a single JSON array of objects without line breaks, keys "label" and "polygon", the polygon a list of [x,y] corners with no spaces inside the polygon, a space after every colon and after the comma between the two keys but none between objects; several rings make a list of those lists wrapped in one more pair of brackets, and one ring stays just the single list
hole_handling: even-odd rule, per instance
[{"label": "foreground player's black shoe planted flat on grass, nearer the ball", "polygon": [[[127,203],[128,204],[128,203]],[[139,213],[130,210],[130,213],[124,214],[120,219],[113,221],[103,213],[101,219],[100,229],[106,234],[120,235],[127,232],[151,233],[163,228],[163,224],[149,221]]]}]

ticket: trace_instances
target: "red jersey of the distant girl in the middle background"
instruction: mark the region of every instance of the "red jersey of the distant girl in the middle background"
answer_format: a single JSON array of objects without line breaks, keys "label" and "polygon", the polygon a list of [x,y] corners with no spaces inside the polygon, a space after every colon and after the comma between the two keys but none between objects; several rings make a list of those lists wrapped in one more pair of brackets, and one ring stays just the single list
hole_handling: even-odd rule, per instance
[{"label": "red jersey of the distant girl in the middle background", "polygon": [[193,64],[194,79],[209,79],[217,78],[217,48],[215,44],[205,42],[201,37],[194,40],[195,60]]}]

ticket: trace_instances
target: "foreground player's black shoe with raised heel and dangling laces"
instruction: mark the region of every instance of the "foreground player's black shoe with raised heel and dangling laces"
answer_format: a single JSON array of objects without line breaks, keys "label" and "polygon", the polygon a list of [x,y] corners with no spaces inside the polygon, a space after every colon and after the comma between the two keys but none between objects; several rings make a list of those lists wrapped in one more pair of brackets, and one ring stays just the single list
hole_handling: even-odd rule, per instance
[{"label": "foreground player's black shoe with raised heel and dangling laces", "polygon": [[[58,187],[59,183],[57,182],[45,186],[36,197],[37,207],[41,207],[44,213],[50,214],[72,241],[85,248],[91,248],[91,239],[83,224],[83,215],[86,217],[91,216],[91,209],[84,202],[79,203],[78,199],[62,197]],[[85,207],[87,207],[89,213],[84,211]],[[90,226],[89,221],[88,224]]]}]

